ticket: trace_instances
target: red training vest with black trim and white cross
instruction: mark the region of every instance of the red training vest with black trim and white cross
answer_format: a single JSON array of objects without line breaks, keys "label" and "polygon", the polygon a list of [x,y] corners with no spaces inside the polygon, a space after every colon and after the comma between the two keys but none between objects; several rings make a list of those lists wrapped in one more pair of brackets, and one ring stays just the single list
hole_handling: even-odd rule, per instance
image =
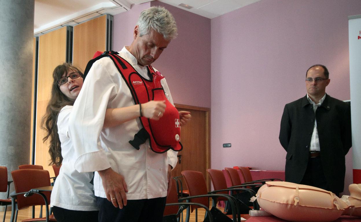
[{"label": "red training vest with black trim and white cross", "polygon": [[96,60],[105,56],[112,59],[114,65],[127,83],[135,104],[147,103],[150,100],[165,100],[166,103],[165,112],[158,121],[146,117],[139,117],[143,128],[134,135],[134,140],[130,140],[129,143],[135,149],[139,150],[139,145],[149,139],[151,149],[155,153],[164,153],[169,149],[181,151],[183,146],[179,141],[181,135],[179,112],[165,96],[164,89],[160,82],[164,77],[161,76],[159,72],[155,73],[153,67],[148,65],[148,75],[152,80],[147,80],[118,54],[119,53],[115,51],[106,51],[104,53],[97,51],[93,59],[87,64],[84,79]]}]

